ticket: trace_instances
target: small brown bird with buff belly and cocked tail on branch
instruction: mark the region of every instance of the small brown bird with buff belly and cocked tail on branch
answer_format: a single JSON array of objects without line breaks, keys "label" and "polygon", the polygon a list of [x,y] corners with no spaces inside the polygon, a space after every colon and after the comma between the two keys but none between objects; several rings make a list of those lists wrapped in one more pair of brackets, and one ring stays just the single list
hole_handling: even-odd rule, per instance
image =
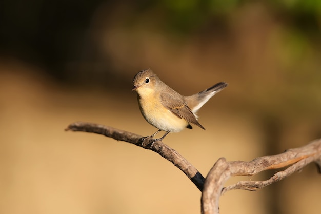
[{"label": "small brown bird with buff belly and cocked tail on branch", "polygon": [[192,128],[194,124],[205,128],[197,121],[196,112],[212,96],[224,89],[228,84],[217,83],[212,87],[193,94],[183,96],[163,83],[152,70],[139,71],[133,80],[132,91],[138,93],[138,104],[145,120],[158,128],[150,137],[153,138],[159,131],[166,131],[162,138],[169,132],[179,132],[184,128]]}]

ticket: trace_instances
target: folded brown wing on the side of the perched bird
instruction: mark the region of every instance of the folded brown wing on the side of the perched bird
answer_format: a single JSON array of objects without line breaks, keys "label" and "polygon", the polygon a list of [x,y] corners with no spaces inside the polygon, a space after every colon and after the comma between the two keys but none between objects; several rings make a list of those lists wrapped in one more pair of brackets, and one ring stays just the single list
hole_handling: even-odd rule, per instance
[{"label": "folded brown wing on the side of the perched bird", "polygon": [[198,123],[195,115],[193,114],[192,110],[186,105],[183,98],[181,98],[180,95],[175,96],[175,97],[176,98],[174,98],[174,96],[172,96],[168,93],[163,93],[162,95],[160,95],[160,102],[168,110],[170,110],[174,115],[178,116],[178,118],[183,118],[187,122],[195,124],[195,125],[199,126],[200,128],[205,129],[202,125],[200,125]]}]

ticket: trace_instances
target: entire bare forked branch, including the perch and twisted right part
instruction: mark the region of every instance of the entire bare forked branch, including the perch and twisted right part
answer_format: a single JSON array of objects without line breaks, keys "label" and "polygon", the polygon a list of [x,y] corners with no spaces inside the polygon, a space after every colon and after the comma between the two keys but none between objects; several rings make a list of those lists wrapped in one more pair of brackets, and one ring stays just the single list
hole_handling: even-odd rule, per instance
[{"label": "entire bare forked branch, including the perch and twisted right part", "polygon": [[[125,141],[157,152],[182,170],[196,187],[202,191],[202,213],[204,214],[219,213],[219,197],[226,191],[232,189],[256,191],[290,176],[311,162],[316,163],[321,173],[321,139],[315,140],[303,147],[288,149],[281,154],[273,156],[259,157],[250,162],[228,162],[225,158],[220,158],[214,164],[206,179],[204,179],[202,174],[191,163],[162,141],[155,141],[155,139],[150,137],[142,137],[128,131],[86,122],[72,123],[65,130],[102,134],[115,140]],[[236,184],[223,187],[224,183],[232,176],[253,176],[265,170],[283,167],[288,168],[276,172],[266,181],[240,181]]]}]

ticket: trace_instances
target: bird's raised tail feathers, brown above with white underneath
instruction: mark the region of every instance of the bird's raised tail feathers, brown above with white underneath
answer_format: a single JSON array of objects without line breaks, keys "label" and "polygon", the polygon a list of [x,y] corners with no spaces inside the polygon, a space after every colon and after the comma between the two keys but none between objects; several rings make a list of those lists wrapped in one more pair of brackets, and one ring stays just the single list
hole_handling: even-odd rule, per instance
[{"label": "bird's raised tail feathers, brown above with white underneath", "polygon": [[187,105],[196,115],[196,112],[202,107],[212,96],[214,96],[219,91],[227,87],[228,84],[225,82],[216,83],[212,87],[201,91],[199,93],[193,94],[186,97]]}]

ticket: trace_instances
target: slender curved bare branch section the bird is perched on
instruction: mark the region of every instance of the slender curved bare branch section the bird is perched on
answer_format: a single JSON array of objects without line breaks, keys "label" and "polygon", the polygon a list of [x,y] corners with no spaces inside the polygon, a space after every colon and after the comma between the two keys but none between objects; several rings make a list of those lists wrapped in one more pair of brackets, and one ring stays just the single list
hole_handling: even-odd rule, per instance
[{"label": "slender curved bare branch section the bird is perched on", "polygon": [[125,141],[144,149],[153,150],[168,161],[172,162],[177,168],[182,170],[200,191],[203,190],[205,178],[202,176],[202,174],[200,174],[200,172],[191,163],[183,158],[182,155],[164,144],[162,141],[155,141],[155,139],[143,137],[128,131],[87,122],[72,123],[65,130],[102,134],[118,141]]}]

